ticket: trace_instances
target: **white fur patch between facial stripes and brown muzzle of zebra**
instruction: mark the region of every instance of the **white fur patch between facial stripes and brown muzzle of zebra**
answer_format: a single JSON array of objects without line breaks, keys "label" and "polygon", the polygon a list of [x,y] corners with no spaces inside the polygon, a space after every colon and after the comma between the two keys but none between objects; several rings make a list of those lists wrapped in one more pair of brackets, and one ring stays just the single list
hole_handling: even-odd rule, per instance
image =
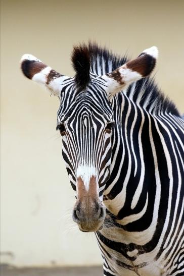
[{"label": "white fur patch between facial stripes and brown muzzle of zebra", "polygon": [[90,178],[96,177],[97,172],[95,167],[89,166],[87,164],[83,164],[83,165],[79,165],[79,167],[77,168],[76,176],[77,178],[80,177],[82,179],[84,186],[86,188],[86,191],[88,191]]}]

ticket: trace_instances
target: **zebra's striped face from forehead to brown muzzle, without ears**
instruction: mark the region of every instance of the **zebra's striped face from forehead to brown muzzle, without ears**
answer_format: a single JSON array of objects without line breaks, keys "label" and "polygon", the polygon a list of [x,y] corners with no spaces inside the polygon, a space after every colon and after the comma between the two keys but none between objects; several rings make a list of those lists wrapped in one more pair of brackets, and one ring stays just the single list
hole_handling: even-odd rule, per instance
[{"label": "zebra's striped face from forehead to brown muzzle, without ears", "polygon": [[76,196],[72,217],[81,231],[94,232],[105,219],[103,192],[110,176],[113,112],[106,92],[97,89],[95,83],[93,89],[89,85],[79,93],[75,85],[65,89],[57,129]]}]

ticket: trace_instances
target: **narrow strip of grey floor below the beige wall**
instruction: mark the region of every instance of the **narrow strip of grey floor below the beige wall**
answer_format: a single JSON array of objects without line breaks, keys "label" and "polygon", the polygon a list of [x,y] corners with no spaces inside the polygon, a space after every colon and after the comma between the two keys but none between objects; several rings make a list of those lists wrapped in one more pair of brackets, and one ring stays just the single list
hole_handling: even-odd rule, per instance
[{"label": "narrow strip of grey floor below the beige wall", "polygon": [[102,276],[101,266],[54,267],[54,268],[15,268],[1,265],[1,276]]}]

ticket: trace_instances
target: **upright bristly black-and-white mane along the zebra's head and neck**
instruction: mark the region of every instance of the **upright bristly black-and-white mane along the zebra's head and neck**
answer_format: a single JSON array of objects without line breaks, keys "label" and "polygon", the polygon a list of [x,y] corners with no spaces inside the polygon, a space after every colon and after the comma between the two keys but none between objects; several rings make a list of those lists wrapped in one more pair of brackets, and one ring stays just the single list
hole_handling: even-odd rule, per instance
[{"label": "upright bristly black-and-white mane along the zebra's head and neck", "polygon": [[[88,44],[74,46],[71,60],[76,73],[75,83],[78,90],[82,91],[89,83],[91,73],[99,76],[110,73],[125,64],[128,58],[120,58],[107,48],[89,41]],[[160,91],[153,78],[144,78],[130,85],[126,95],[147,111],[151,111],[150,113],[166,112],[180,116],[175,104]]]}]

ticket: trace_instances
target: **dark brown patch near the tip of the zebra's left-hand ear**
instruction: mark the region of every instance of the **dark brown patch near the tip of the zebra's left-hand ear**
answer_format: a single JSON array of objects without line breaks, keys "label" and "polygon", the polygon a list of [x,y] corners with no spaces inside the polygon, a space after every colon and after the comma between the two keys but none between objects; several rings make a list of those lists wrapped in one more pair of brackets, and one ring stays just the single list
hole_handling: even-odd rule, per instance
[{"label": "dark brown patch near the tip of the zebra's left-hand ear", "polygon": [[30,80],[35,74],[39,73],[45,67],[47,67],[47,65],[37,61],[25,60],[21,64],[21,69],[24,76],[26,76]]}]

